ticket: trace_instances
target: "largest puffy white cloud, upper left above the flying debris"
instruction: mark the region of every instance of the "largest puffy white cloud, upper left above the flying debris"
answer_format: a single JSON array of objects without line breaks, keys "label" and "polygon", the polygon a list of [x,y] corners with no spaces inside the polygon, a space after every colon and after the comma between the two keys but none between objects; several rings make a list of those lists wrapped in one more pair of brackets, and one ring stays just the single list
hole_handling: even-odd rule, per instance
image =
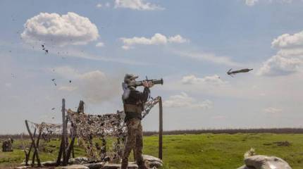
[{"label": "largest puffy white cloud, upper left above the flying debris", "polygon": [[25,42],[44,42],[64,46],[67,44],[87,44],[99,37],[97,26],[89,18],[69,12],[39,13],[28,19],[21,37]]}]

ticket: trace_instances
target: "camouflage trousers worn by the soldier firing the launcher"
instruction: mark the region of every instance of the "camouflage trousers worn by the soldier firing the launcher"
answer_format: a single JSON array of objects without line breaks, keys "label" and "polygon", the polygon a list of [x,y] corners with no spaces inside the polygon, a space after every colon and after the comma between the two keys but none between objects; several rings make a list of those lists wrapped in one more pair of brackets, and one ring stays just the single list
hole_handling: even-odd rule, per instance
[{"label": "camouflage trousers worn by the soldier firing the launcher", "polygon": [[132,151],[132,149],[134,150],[135,160],[139,169],[143,169],[145,167],[142,159],[143,132],[141,120],[132,118],[126,122],[126,125],[128,126],[128,137],[126,137],[121,169],[128,168],[128,156],[130,156],[130,151]]}]

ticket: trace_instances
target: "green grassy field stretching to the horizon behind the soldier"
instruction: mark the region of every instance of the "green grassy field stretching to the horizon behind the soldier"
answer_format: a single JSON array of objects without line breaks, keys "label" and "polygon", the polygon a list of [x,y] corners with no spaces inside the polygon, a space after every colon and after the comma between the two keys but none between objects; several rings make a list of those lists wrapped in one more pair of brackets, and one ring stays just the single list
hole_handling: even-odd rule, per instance
[{"label": "green grassy field stretching to the horizon behind the soldier", "polygon": [[[276,142],[290,142],[280,146]],[[43,142],[42,142],[43,144]],[[13,152],[0,152],[1,166],[18,165],[24,153],[20,141],[14,143]],[[44,145],[42,161],[54,161],[58,141]],[[257,154],[278,156],[293,169],[303,168],[303,134],[179,134],[163,136],[163,168],[232,169],[243,164],[243,154],[251,147]],[[41,149],[41,148],[40,148]],[[76,156],[84,156],[82,148],[75,147]],[[144,137],[144,154],[158,155],[158,137]]]}]

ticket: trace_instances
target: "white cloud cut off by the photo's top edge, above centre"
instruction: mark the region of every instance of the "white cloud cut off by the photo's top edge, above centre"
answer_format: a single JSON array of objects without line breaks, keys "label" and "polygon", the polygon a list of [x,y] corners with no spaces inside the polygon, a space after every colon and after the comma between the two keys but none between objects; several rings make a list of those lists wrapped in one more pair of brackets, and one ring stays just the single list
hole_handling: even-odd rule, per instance
[{"label": "white cloud cut off by the photo's top edge, above centre", "polygon": [[151,4],[144,0],[116,0],[115,8],[130,8],[139,11],[154,11],[164,9],[161,6]]}]

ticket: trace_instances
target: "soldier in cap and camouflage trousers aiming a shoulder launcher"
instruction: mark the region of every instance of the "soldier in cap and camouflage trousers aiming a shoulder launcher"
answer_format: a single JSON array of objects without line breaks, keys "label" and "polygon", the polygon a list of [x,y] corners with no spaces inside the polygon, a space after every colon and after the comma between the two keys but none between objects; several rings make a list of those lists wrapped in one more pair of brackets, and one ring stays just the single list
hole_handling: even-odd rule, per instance
[{"label": "soldier in cap and camouflage trousers aiming a shoulder launcher", "polygon": [[[128,136],[126,138],[125,148],[123,151],[123,158],[121,163],[121,169],[128,168],[128,156],[130,156],[130,151],[135,150],[135,159],[139,169],[147,168],[143,163],[142,158],[142,111],[143,104],[149,98],[149,88],[153,86],[152,82],[143,82],[144,90],[139,92],[136,90],[135,86],[130,86],[128,84],[134,84],[137,76],[132,74],[126,74],[124,77],[124,84],[127,87],[124,88],[123,93],[123,106],[125,112],[125,123],[128,127]],[[125,86],[125,85],[124,85]]]}]

